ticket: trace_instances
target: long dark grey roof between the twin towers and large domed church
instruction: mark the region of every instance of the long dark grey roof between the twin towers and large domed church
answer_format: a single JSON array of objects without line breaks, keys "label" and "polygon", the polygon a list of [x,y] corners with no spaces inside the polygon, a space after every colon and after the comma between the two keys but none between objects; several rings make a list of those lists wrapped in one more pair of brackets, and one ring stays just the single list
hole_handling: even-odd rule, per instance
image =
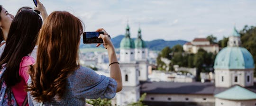
[{"label": "long dark grey roof between the twin towers and large domed church", "polygon": [[[140,81],[141,94],[192,94],[192,95],[216,95],[230,88],[216,88],[211,82],[149,82]],[[232,87],[231,87],[232,88]],[[244,88],[256,93],[256,83],[253,87]]]}]

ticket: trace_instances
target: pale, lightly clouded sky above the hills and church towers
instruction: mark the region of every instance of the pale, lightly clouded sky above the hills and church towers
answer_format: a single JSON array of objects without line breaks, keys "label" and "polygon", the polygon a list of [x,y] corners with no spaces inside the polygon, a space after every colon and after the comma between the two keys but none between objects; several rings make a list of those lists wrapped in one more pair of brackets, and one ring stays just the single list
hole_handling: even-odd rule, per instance
[{"label": "pale, lightly clouded sky above the hills and church towers", "polygon": [[[124,35],[151,41],[186,40],[214,35],[218,40],[232,34],[234,26],[256,26],[256,0],[41,0],[48,14],[68,11],[80,18],[85,31],[103,27],[111,37]],[[15,15],[23,6],[35,7],[33,0],[0,0]]]}]

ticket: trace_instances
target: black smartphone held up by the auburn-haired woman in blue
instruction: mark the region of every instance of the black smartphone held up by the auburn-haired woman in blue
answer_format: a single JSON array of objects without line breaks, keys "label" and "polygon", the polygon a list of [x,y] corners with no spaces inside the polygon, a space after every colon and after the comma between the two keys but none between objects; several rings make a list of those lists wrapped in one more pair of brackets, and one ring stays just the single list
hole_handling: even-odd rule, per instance
[{"label": "black smartphone held up by the auburn-haired woman in blue", "polygon": [[99,35],[104,34],[104,32],[84,32],[82,33],[83,44],[102,44],[103,40],[98,38]]}]

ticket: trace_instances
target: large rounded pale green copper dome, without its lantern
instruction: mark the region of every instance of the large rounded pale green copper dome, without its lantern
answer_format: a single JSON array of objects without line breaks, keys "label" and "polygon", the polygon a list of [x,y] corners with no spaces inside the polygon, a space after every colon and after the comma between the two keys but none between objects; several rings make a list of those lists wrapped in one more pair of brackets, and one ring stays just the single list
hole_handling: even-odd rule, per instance
[{"label": "large rounded pale green copper dome, without its lantern", "polygon": [[225,47],[216,56],[214,69],[253,69],[251,53],[243,47]]}]

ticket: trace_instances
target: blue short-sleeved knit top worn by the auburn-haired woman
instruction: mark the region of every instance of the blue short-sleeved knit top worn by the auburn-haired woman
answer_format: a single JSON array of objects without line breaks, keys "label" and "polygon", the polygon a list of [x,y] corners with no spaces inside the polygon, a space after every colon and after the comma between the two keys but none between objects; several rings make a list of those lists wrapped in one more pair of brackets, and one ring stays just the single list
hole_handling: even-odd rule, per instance
[{"label": "blue short-sleeved knit top worn by the auburn-haired woman", "polygon": [[[50,77],[50,76],[49,76]],[[99,75],[90,68],[80,67],[67,79],[66,91],[62,99],[56,95],[51,102],[43,103],[43,106],[85,106],[85,99],[113,98],[116,95],[117,82],[109,77]],[[28,80],[28,84],[31,79]],[[39,106],[40,102],[30,97],[29,106]]]}]

